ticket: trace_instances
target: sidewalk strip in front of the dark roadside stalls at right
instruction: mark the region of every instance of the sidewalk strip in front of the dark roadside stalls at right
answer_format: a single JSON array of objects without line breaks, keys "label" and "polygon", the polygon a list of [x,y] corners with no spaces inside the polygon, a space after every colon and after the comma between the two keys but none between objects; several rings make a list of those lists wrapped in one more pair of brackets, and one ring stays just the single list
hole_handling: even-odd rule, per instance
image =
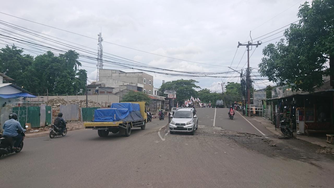
[{"label": "sidewalk strip in front of the dark roadside stalls at right", "polygon": [[[263,117],[252,117],[259,123],[261,123],[263,126],[266,127],[266,129],[270,130],[272,133],[276,135],[282,135],[282,132],[280,129],[275,130],[275,126],[271,123],[272,121],[266,120]],[[334,149],[333,144],[328,144],[326,142],[326,136],[320,137],[320,136],[306,136],[306,135],[298,135],[296,132],[294,132],[294,137],[300,140],[304,140],[306,142],[319,145],[321,147],[328,147]]]}]

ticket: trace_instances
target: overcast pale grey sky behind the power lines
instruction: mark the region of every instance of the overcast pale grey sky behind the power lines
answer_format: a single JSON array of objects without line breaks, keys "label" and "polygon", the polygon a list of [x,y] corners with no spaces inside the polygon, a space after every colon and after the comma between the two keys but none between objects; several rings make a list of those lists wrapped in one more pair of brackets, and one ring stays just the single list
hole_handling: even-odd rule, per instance
[{"label": "overcast pale grey sky behind the power lines", "polygon": [[[298,8],[303,2],[305,1],[16,0],[2,2],[0,11],[96,39],[98,37],[97,34],[102,30],[104,55],[107,56],[109,55],[106,53],[109,53],[169,70],[226,72],[231,71],[227,68],[229,66],[240,70],[245,65],[247,53],[241,59],[245,52],[245,46],[240,46],[238,49],[236,46],[238,41],[245,42],[251,39],[249,37],[250,30],[252,30],[252,38],[254,39],[295,22],[298,20],[296,16]],[[5,14],[0,14],[0,20],[75,42],[92,49],[97,50],[98,48],[97,40],[92,38],[39,25]],[[6,27],[0,25],[0,28]],[[11,30],[9,28],[6,29]],[[278,31],[281,30],[283,29]],[[268,37],[276,32],[259,39]],[[262,42],[282,35],[283,32],[280,32],[263,39]],[[270,42],[278,40],[275,39]],[[198,63],[157,56],[107,42]],[[262,49],[268,43],[260,45],[256,51],[253,48],[250,52],[252,54],[254,51],[250,59],[251,67],[258,67],[263,57]],[[0,44],[0,47],[3,46],[3,44]],[[232,62],[235,52],[236,56]],[[36,56],[36,54],[27,51],[25,53]],[[89,79],[95,80],[95,65],[88,63],[83,63],[83,65],[87,66],[82,68],[88,71]],[[113,67],[105,68],[113,69]],[[154,76],[154,87],[157,88],[162,84],[162,80],[171,81],[182,78],[155,73],[149,74]],[[227,74],[227,76],[238,75],[237,73]],[[226,74],[219,76],[226,76]],[[185,77],[183,79],[197,80],[201,88],[210,90],[212,88],[213,91],[217,92],[221,92],[221,86],[218,85],[220,82],[240,82],[238,78]],[[258,84],[255,85],[255,88],[272,84],[267,80],[258,80],[256,82]]]}]

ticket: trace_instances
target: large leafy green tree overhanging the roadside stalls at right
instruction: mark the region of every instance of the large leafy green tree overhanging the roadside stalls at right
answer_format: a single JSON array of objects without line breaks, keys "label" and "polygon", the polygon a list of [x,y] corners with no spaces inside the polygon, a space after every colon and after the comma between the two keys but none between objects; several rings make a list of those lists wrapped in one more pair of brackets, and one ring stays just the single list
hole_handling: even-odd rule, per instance
[{"label": "large leafy green tree overhanging the roadside stalls at right", "polygon": [[314,91],[323,76],[333,75],[324,64],[334,62],[334,1],[313,0],[300,6],[299,23],[285,31],[286,40],[263,49],[259,64],[261,76],[279,85],[289,84],[292,90]]}]

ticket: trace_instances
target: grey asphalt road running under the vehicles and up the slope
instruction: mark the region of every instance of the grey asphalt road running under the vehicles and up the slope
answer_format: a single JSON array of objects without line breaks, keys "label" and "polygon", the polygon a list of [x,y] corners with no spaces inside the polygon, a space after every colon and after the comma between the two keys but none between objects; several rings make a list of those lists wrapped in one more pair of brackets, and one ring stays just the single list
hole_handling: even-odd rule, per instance
[{"label": "grey asphalt road running under the vehicles and up the slope", "polygon": [[333,161],[273,157],[276,150],[263,137],[227,131],[261,135],[240,115],[229,120],[227,109],[216,109],[216,117],[214,112],[197,109],[201,126],[194,136],[166,133],[166,118],[154,119],[145,130],[134,128],[130,137],[99,137],[96,130],[81,129],[53,139],[26,138],[21,153],[0,159],[1,187],[333,186]]}]

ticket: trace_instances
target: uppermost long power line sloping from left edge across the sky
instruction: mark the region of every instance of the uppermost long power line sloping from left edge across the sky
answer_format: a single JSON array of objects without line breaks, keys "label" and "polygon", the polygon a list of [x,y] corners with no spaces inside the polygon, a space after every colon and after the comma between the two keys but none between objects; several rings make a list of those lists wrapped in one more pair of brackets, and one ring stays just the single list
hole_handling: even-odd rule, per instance
[{"label": "uppermost long power line sloping from left edge across the sky", "polygon": [[[87,38],[91,38],[91,39],[96,40],[96,38],[93,38],[93,37],[90,37],[90,36],[86,36],[86,35],[83,35],[83,34],[75,33],[75,32],[72,32],[72,31],[65,30],[65,29],[60,29],[60,28],[57,28],[57,27],[53,27],[53,26],[50,26],[50,25],[43,24],[43,23],[38,23],[38,22],[35,22],[35,21],[31,21],[31,20],[28,20],[28,19],[24,19],[24,18],[21,18],[21,17],[10,15],[10,14],[4,13],[4,12],[0,12],[0,13],[8,15],[8,16],[15,17],[15,18],[19,18],[19,19],[22,19],[22,20],[25,20],[25,21],[29,21],[29,22],[32,22],[32,23],[44,25],[44,26],[47,26],[47,27],[51,27],[51,28],[54,28],[54,29],[58,29],[58,30],[61,30],[61,31],[69,32],[69,33],[72,33],[72,34],[76,34],[76,35],[80,35],[80,36],[83,36],[83,37],[87,37]],[[116,44],[116,43],[113,43],[113,42],[108,42],[108,41],[105,41],[105,42],[109,43],[109,44],[114,44],[114,45],[117,45],[117,46],[121,46],[123,48],[128,48],[128,49],[131,49],[131,50],[136,50],[136,51],[139,51],[139,52],[144,52],[144,53],[147,53],[147,54],[152,54],[152,55],[161,56],[161,57],[165,57],[165,58],[171,58],[171,59],[175,59],[175,60],[186,61],[186,62],[191,62],[191,63],[198,63],[198,64],[203,64],[203,65],[211,65],[211,66],[218,66],[218,67],[227,67],[227,66],[222,66],[222,65],[213,65],[213,64],[207,64],[207,63],[199,63],[199,62],[194,62],[194,61],[188,61],[188,60],[183,60],[183,59],[168,57],[168,56],[164,56],[164,55],[160,55],[160,54],[154,54],[154,53],[151,53],[151,52],[134,49],[134,48],[131,48],[131,47],[128,47],[128,46],[124,46],[124,45],[120,45],[120,44]]]}]

